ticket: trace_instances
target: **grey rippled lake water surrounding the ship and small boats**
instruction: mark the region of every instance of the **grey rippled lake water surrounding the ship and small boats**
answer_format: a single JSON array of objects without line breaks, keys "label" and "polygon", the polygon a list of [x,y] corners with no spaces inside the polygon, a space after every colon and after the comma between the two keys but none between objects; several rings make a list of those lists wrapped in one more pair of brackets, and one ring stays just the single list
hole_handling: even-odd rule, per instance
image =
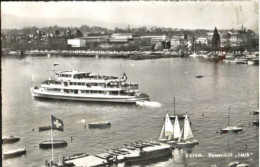
[{"label": "grey rippled lake water surrounding the ship and small boats", "polygon": [[[61,65],[53,67],[54,61]],[[125,72],[129,82],[138,83],[140,92],[147,93],[150,100],[160,103],[161,107],[32,98],[31,85],[39,85],[53,76],[53,70],[71,69],[120,77]],[[198,74],[204,77],[198,79],[195,77]],[[51,149],[39,149],[40,141],[50,139],[50,131],[38,132],[38,127],[50,125],[50,114],[65,124],[64,132],[54,131],[53,138],[68,141],[68,147],[54,149],[55,161],[59,155],[95,154],[137,140],[157,140],[164,116],[173,114],[175,97],[176,113],[189,113],[191,129],[199,145],[188,150],[174,150],[170,158],[120,166],[209,167],[236,160],[255,167],[259,163],[259,129],[249,124],[257,119],[250,112],[258,108],[258,81],[258,66],[204,59],[2,58],[2,133],[21,138],[17,143],[3,145],[3,152],[19,147],[27,149],[24,156],[3,160],[3,166],[41,166],[51,159]],[[229,107],[230,124],[241,125],[243,132],[240,134],[216,133],[227,126]],[[110,121],[111,128],[84,128],[89,122],[102,120]],[[182,127],[183,121],[180,124]],[[187,157],[187,153],[205,157]],[[233,156],[212,158],[209,153],[233,153]],[[250,156],[235,157],[237,153]]]}]

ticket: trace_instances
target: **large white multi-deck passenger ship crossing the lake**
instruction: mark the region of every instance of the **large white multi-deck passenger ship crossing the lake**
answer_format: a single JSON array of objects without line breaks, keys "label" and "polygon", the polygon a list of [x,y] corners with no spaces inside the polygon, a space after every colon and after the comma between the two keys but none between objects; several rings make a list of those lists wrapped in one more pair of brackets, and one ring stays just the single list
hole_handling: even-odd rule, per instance
[{"label": "large white multi-deck passenger ship crossing the lake", "polygon": [[125,73],[119,78],[72,70],[56,72],[53,79],[30,89],[32,96],[38,98],[119,103],[149,101],[148,95],[139,93],[138,84],[126,83],[126,80]]}]

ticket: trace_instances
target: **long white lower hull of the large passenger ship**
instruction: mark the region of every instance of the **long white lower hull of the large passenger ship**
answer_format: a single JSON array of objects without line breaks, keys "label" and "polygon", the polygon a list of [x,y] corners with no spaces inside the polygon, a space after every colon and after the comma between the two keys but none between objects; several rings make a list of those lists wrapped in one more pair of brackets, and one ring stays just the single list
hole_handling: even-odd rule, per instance
[{"label": "long white lower hull of the large passenger ship", "polygon": [[89,102],[113,102],[113,103],[136,103],[137,101],[149,101],[147,95],[141,96],[116,96],[116,95],[86,95],[86,94],[65,94],[40,91],[31,88],[32,96],[35,98],[89,101]]}]

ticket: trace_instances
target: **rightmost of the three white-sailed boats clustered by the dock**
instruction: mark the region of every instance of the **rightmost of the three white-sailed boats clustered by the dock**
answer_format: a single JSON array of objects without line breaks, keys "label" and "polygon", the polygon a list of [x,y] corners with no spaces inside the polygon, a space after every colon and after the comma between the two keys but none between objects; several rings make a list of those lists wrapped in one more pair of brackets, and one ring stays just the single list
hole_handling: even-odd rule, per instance
[{"label": "rightmost of the three white-sailed boats clustered by the dock", "polygon": [[180,133],[178,142],[176,144],[177,146],[193,146],[199,144],[198,140],[195,140],[192,134],[188,115],[185,115],[184,127]]}]

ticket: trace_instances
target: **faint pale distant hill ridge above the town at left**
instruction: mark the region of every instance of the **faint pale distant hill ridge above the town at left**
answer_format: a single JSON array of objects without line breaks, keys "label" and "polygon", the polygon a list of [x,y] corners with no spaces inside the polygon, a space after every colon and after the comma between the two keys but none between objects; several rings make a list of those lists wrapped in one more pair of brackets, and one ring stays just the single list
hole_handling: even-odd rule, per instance
[{"label": "faint pale distant hill ridge above the town at left", "polygon": [[28,26],[36,26],[36,27],[46,27],[46,26],[76,26],[79,27],[81,25],[88,25],[88,26],[99,26],[109,29],[114,29],[115,27],[119,28],[126,28],[128,24],[124,23],[109,23],[109,22],[102,22],[92,19],[85,19],[85,18],[62,18],[62,19],[53,19],[53,18],[26,18],[26,17],[19,17],[14,15],[2,14],[1,17],[2,21],[2,29],[20,29],[23,27]]}]

